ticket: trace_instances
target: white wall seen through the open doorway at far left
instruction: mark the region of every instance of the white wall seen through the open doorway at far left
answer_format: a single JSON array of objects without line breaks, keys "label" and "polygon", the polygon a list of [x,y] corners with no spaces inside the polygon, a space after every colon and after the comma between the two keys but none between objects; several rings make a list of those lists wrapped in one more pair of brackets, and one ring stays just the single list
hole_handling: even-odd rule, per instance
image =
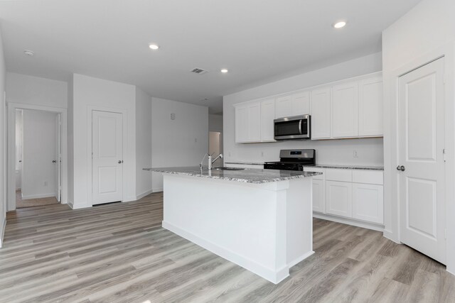
[{"label": "white wall seen through the open doorway at far left", "polygon": [[56,118],[47,111],[23,110],[23,199],[55,196]]}]

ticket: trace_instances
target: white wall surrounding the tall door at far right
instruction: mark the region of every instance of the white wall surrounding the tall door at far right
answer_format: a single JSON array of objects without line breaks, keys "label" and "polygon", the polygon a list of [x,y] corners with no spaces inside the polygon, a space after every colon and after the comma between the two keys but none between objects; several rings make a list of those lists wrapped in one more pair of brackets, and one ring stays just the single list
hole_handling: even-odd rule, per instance
[{"label": "white wall surrounding the tall door at far right", "polygon": [[[412,65],[416,60],[431,60],[437,55],[446,55],[448,82],[446,82],[446,98],[451,100],[449,119],[446,119],[450,138],[446,141],[448,159],[446,177],[454,177],[454,52],[455,39],[455,1],[424,0],[411,11],[392,24],[382,33],[383,77],[384,77],[384,202],[385,202],[385,236],[400,241],[398,228],[397,199],[397,99],[393,89],[396,82],[395,71],[405,65]],[[452,48],[447,53],[439,50],[449,43]],[[432,55],[427,55],[432,53]],[[427,58],[424,58],[427,57]],[[424,62],[420,62],[422,64]],[[412,68],[410,67],[410,68]],[[417,67],[417,65],[415,66]],[[455,273],[455,214],[454,187],[449,186],[446,192],[447,216],[447,270]]]}]

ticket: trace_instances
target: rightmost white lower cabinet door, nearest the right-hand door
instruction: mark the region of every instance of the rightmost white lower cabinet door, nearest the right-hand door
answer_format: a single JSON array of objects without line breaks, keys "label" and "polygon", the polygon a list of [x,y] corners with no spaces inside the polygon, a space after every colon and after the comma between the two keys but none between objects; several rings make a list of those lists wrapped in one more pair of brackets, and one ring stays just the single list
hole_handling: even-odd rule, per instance
[{"label": "rightmost white lower cabinet door, nearest the right-hand door", "polygon": [[353,218],[384,223],[382,185],[353,183]]}]

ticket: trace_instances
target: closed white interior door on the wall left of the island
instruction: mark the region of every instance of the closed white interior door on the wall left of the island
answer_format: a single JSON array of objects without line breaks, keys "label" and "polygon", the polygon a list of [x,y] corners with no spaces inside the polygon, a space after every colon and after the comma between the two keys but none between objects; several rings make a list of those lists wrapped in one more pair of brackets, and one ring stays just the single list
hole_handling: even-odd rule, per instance
[{"label": "closed white interior door on the wall left of the island", "polygon": [[92,111],[92,204],[123,199],[122,114]]}]

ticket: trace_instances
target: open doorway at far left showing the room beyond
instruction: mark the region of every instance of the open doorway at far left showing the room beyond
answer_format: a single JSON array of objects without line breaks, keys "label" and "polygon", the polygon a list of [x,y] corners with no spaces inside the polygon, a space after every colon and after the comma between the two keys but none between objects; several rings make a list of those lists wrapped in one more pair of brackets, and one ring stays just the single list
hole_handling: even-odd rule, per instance
[{"label": "open doorway at far left showing the room beyond", "polygon": [[61,114],[15,110],[16,208],[60,204]]}]

